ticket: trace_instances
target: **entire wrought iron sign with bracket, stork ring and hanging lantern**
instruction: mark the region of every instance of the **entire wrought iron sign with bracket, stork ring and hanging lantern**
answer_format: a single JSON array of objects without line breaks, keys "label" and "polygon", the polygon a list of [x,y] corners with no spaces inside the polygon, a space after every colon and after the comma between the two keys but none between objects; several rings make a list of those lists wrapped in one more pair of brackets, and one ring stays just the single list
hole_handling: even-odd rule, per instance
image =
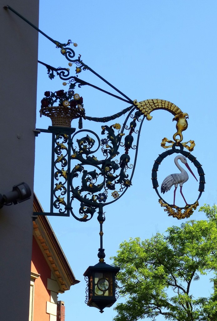
[{"label": "entire wrought iron sign with bracket, stork ring and hanging lantern", "polygon": [[[61,89],[55,92],[45,91],[44,97],[41,100],[40,116],[50,117],[52,121],[52,126],[49,126],[48,129],[36,129],[36,133],[45,132],[52,134],[51,203],[49,213],[34,214],[60,216],[69,216],[71,214],[76,220],[86,222],[92,219],[94,213],[97,212],[97,219],[100,223],[100,249],[98,257],[100,263],[104,263],[105,253],[102,246],[102,224],[105,221],[105,215],[103,209],[106,205],[116,202],[133,184],[141,126],[145,118],[147,120],[152,119],[150,115],[151,112],[163,109],[173,114],[173,120],[176,122],[176,132],[173,134],[173,141],[167,138],[162,140],[161,146],[167,150],[157,157],[153,165],[151,176],[153,188],[159,197],[159,203],[164,207],[164,211],[166,211],[169,216],[176,217],[177,219],[189,217],[198,206],[198,199],[204,191],[205,178],[201,164],[191,154],[195,146],[194,141],[189,140],[185,143],[182,142],[182,132],[188,127],[188,114],[182,112],[179,107],[166,100],[148,99],[140,102],[131,100],[92,70],[91,67],[86,65],[81,60],[81,55],[79,55],[77,59],[75,58],[74,48],[77,47],[76,43],[68,40],[67,43],[62,44],[53,40],[28,22],[19,13],[15,12],[10,6],[7,6],[6,9],[13,11],[20,16],[21,19],[25,20],[47,39],[52,41],[68,61],[68,68],[56,68],[39,61],[40,64],[47,68],[49,78],[53,79],[56,75],[59,76],[63,81],[63,88],[68,87],[68,90]],[[74,48],[70,48],[69,45],[73,45]],[[71,67],[74,68],[73,75],[70,75]],[[95,74],[115,90],[117,95],[78,78],[78,74],[84,71],[90,71]],[[80,97],[77,89],[75,89],[77,86],[79,90],[79,88],[84,85],[91,86],[116,99],[122,100],[126,102],[128,106],[112,116],[88,116],[84,108],[85,102],[83,98]],[[123,121],[123,126],[121,126],[120,121],[116,122],[116,119],[125,114],[126,117]],[[78,119],[77,131],[75,128],[71,128],[71,121],[76,118]],[[101,123],[100,137],[92,130],[83,129],[83,122],[85,120]],[[187,151],[185,151],[184,148]],[[178,169],[180,169],[180,173],[171,174],[165,178],[161,185],[161,193],[164,194],[174,185],[173,204],[166,202],[160,195],[157,180],[159,165],[169,155],[177,155],[174,161]],[[191,161],[197,169],[199,180],[199,196],[193,204],[188,204],[182,193],[182,185],[188,180],[188,174],[179,162],[185,164],[193,174],[188,165],[188,161]],[[194,174],[193,176],[196,178]],[[180,193],[186,204],[185,207],[179,207],[175,204],[178,185],[180,185]],[[78,202],[79,206],[78,209],[75,210],[74,204],[76,202]],[[90,270],[91,269],[86,273],[88,277],[91,275],[89,273]],[[93,267],[92,270],[94,270]],[[97,270],[97,273],[102,272]],[[90,282],[93,282],[93,278],[94,277],[91,276]],[[104,276],[102,276],[101,279],[103,278]],[[99,283],[97,280],[94,282],[96,284],[89,284],[89,286],[92,286],[92,289]],[[108,280],[104,281],[106,284],[109,282]],[[104,293],[104,290],[100,289],[99,284],[97,286],[99,288],[97,288],[97,291]],[[94,295],[97,294],[92,294],[91,301],[88,301],[90,306],[94,306],[94,300],[98,299],[95,298]],[[108,298],[108,301],[114,301],[113,290],[112,296],[113,298]]]}]

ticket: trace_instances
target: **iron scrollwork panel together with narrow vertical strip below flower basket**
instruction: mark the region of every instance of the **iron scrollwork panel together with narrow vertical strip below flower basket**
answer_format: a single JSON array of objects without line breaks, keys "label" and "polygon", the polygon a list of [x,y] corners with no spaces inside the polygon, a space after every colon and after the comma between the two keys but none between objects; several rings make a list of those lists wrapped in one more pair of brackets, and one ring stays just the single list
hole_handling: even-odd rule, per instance
[{"label": "iron scrollwork panel together with narrow vertical strip below flower basket", "polygon": [[[116,116],[119,117],[119,114]],[[71,213],[78,221],[89,221],[99,207],[117,201],[125,193],[132,185],[139,133],[144,120],[143,117],[141,121],[141,115],[141,111],[131,108],[122,128],[118,123],[101,126],[101,134],[106,135],[101,139],[91,130],[82,129],[74,133],[74,128],[49,127],[53,134],[53,198],[51,212],[46,215],[55,215],[58,210],[59,215],[69,216]],[[111,117],[108,117],[108,121],[111,121]],[[141,123],[139,130],[136,130],[137,123]],[[128,133],[125,135],[126,131]],[[135,145],[134,135],[138,135]],[[134,163],[131,163],[130,149],[134,150]],[[99,152],[102,159],[98,159]],[[129,170],[131,175],[128,174]],[[77,214],[73,209],[76,200],[80,202],[78,210],[76,205]]]}]

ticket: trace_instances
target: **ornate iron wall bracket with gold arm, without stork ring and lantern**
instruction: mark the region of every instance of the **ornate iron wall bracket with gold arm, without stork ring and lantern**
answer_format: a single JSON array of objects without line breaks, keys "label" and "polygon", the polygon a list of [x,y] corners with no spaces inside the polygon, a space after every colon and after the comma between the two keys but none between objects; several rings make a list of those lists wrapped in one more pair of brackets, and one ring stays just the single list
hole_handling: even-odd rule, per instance
[{"label": "ornate iron wall bracket with gold arm, without stork ring and lantern", "polygon": [[[42,108],[41,114],[52,118],[52,125],[49,127],[47,132],[52,133],[52,197],[51,197],[51,211],[50,213],[46,213],[47,215],[64,215],[69,216],[71,213],[76,220],[78,221],[89,221],[94,212],[99,208],[103,209],[103,206],[107,204],[111,204],[117,200],[117,198],[121,197],[126,189],[130,187],[131,180],[133,177],[135,163],[137,158],[138,152],[138,142],[139,142],[139,135],[141,131],[141,125],[143,123],[144,118],[141,120],[142,114],[146,116],[148,120],[151,120],[152,116],[150,113],[156,109],[165,109],[171,112],[174,115],[173,120],[176,123],[176,133],[173,135],[173,140],[177,146],[187,146],[189,150],[193,150],[194,143],[191,143],[191,146],[188,146],[187,143],[181,144],[183,140],[182,132],[187,129],[188,123],[187,118],[188,114],[183,113],[180,108],[178,108],[173,103],[166,101],[166,100],[159,100],[159,99],[151,99],[151,100],[144,100],[137,102],[137,100],[131,100],[127,97],[123,92],[119,91],[116,87],[114,87],[111,83],[105,80],[102,76],[96,73],[92,68],[88,65],[84,64],[81,60],[81,55],[78,56],[77,59],[75,57],[75,51],[68,46],[73,44],[74,47],[77,46],[76,43],[68,40],[67,43],[60,43],[52,39],[51,37],[47,36],[43,31],[38,29],[35,25],[29,22],[26,18],[24,18],[20,13],[16,12],[12,7],[9,5],[4,6],[4,9],[9,9],[17,16],[19,16],[22,20],[27,22],[31,27],[36,29],[42,35],[44,35],[47,39],[49,39],[52,43],[56,45],[56,48],[60,48],[60,52],[66,59],[69,61],[68,65],[72,66],[72,64],[76,65],[76,74],[79,74],[82,70],[89,70],[97,77],[99,77],[103,82],[107,83],[111,88],[117,91],[121,96],[124,98],[112,94],[108,91],[101,89],[95,85],[92,85],[84,80],[79,79],[77,76],[70,76],[69,75],[69,68],[54,68],[50,65],[47,65],[43,62],[40,62],[44,65],[49,74],[49,78],[54,78],[54,72],[60,77],[62,80],[69,81],[69,91],[64,93],[64,91],[59,91],[59,94],[56,92],[56,96],[54,93],[50,94],[47,93],[45,98],[42,100]],[[63,85],[66,85],[66,82],[63,82]],[[78,104],[78,102],[70,101],[72,93],[74,94],[73,89],[75,88],[76,84],[78,87],[82,85],[89,85],[95,89],[103,91],[113,97],[123,100],[129,104],[130,107],[126,108],[125,110],[121,111],[110,117],[103,117],[103,118],[92,118],[85,116],[85,111],[83,108],[83,99],[82,102]],[[60,95],[60,92],[61,93]],[[59,96],[58,96],[59,95]],[[75,96],[79,97],[78,94],[74,95],[75,100],[78,99]],[[61,98],[61,96],[65,97],[65,100]],[[53,98],[56,97],[54,100]],[[60,103],[59,106],[53,107],[53,103],[57,101],[59,98]],[[72,104],[72,105],[71,105]],[[135,112],[134,116],[131,114],[135,108],[137,111]],[[62,111],[64,109],[64,117],[66,118],[62,122]],[[92,131],[86,131],[91,135],[95,136],[95,139],[87,134],[84,137],[77,138],[77,147],[75,147],[74,138],[75,135],[80,134],[82,131],[78,131],[74,134],[75,129],[70,128],[71,120],[74,118],[79,117],[79,128],[82,128],[82,118],[89,119],[93,121],[102,121],[107,122],[111,119],[115,119],[123,115],[126,111],[129,111],[128,116],[125,119],[124,126],[121,129],[119,124],[113,124],[111,126],[101,126],[102,134],[107,133],[107,138],[101,139]],[[133,120],[130,122],[129,127],[127,126],[127,121],[129,117],[132,117]],[[58,126],[55,126],[55,119],[53,118],[59,117],[60,120],[58,121]],[[139,130],[136,131],[135,127],[137,122],[141,122]],[[61,127],[62,124],[66,127]],[[118,134],[115,134],[114,129],[119,130]],[[125,136],[125,142],[122,142],[122,136],[125,135],[124,129],[129,130],[129,134]],[[43,130],[41,130],[43,131]],[[45,130],[44,130],[45,131]],[[133,134],[138,134],[137,143],[136,145],[133,144]],[[74,134],[72,136],[72,134]],[[98,142],[97,148],[92,151],[92,148]],[[165,138],[165,142],[172,142],[168,141]],[[193,142],[193,141],[190,141]],[[104,156],[104,160],[98,160],[93,153],[99,150],[101,146],[101,151]],[[165,147],[165,144],[162,145]],[[172,146],[174,147],[174,143],[172,142]],[[119,147],[125,147],[125,153],[123,153],[120,157],[119,155]],[[130,164],[130,156],[129,156],[129,149],[135,150],[135,158],[134,163]],[[71,153],[72,152],[72,153]],[[92,155],[92,156],[91,156]],[[115,160],[113,160],[115,159]],[[71,169],[71,160],[77,160],[78,164]],[[88,166],[92,166],[93,170],[86,169]],[[129,178],[129,174],[126,174],[126,171],[131,169],[132,173]],[[81,185],[76,186],[74,181],[82,175],[81,178]],[[98,179],[101,178],[101,182],[98,184]],[[57,181],[57,182],[56,182]],[[205,182],[205,181],[204,181]],[[75,187],[76,186],[76,187]],[[119,186],[119,189],[117,189]],[[114,198],[112,201],[108,201],[108,192],[113,191],[110,196]],[[71,194],[70,194],[71,193]],[[74,200],[78,200],[80,202],[79,214],[80,217],[73,213],[72,202]],[[162,199],[163,201],[163,199]],[[166,204],[166,203],[165,203]],[[162,203],[162,206],[163,203]],[[58,213],[54,212],[54,210],[58,210]],[[100,211],[99,211],[100,213]],[[103,213],[103,212],[102,212]],[[38,213],[39,214],[39,213]],[[43,214],[43,213],[40,213]],[[102,256],[102,254],[101,254]]]}]

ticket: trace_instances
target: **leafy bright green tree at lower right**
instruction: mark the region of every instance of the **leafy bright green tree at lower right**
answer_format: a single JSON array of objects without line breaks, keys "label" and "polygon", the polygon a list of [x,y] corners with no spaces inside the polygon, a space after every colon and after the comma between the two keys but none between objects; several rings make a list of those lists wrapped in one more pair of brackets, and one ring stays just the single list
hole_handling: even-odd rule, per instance
[{"label": "leafy bright green tree at lower right", "polygon": [[118,291],[125,303],[117,304],[115,321],[156,320],[159,315],[176,321],[217,320],[217,293],[198,298],[191,291],[200,275],[217,273],[217,206],[205,204],[200,211],[207,220],[120,244],[112,258],[121,268]]}]

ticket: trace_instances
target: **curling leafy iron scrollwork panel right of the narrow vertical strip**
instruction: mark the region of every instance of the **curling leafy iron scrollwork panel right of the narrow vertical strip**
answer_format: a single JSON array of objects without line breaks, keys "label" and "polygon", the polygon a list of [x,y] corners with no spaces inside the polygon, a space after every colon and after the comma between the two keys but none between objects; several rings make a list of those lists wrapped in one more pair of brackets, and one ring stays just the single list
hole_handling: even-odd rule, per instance
[{"label": "curling leafy iron scrollwork panel right of the narrow vertical strip", "polygon": [[[129,126],[126,126],[126,121],[130,116],[133,120]],[[101,126],[101,134],[107,134],[107,138],[101,140],[96,133],[90,130],[81,130],[73,135],[72,142],[82,132],[88,133],[86,136],[76,139],[76,144],[72,143],[71,145],[71,160],[79,162],[70,174],[70,191],[72,194],[70,212],[76,220],[89,221],[99,206],[103,207],[115,202],[132,185],[132,175],[129,177],[127,170],[133,171],[135,164],[130,164],[129,149],[137,150],[137,145],[133,145],[133,133],[139,133],[139,130],[135,130],[135,127],[136,121],[141,121],[140,116],[140,111],[136,111],[134,115],[130,113],[122,130],[120,124]],[[115,130],[118,131],[117,134]],[[129,130],[129,134],[125,136],[124,130]],[[125,136],[124,142],[122,142],[123,136]],[[96,143],[97,147],[94,148]],[[100,147],[104,156],[102,160],[98,160],[95,154]],[[119,156],[120,147],[124,147],[125,152]],[[79,177],[80,185],[76,186]],[[111,197],[113,197],[113,200],[110,200]],[[73,212],[74,200],[80,202],[78,211],[80,217]]]}]

